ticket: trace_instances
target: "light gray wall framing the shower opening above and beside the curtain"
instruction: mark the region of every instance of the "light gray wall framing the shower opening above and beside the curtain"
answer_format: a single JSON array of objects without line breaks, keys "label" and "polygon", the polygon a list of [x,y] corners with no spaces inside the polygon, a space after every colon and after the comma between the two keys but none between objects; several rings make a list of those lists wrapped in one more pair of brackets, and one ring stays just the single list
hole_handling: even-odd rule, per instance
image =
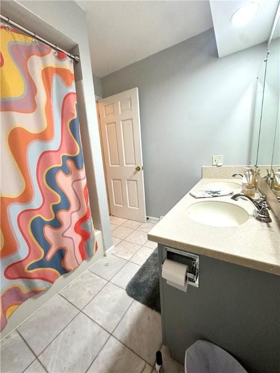
[{"label": "light gray wall framing the shower opening above and beside the curtain", "polygon": [[[75,78],[83,81],[80,128],[93,223],[102,230],[105,249],[112,246],[105,178],[94,99],[86,14],[75,1],[1,1],[1,13],[61,48],[80,54]],[[78,101],[79,92],[77,92]]]}]

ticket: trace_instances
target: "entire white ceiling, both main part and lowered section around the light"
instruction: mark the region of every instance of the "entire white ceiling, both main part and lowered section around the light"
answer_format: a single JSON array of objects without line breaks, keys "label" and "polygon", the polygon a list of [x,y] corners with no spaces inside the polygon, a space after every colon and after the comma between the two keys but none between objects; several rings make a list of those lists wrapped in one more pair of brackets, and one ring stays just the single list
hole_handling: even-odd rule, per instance
[{"label": "entire white ceiling, both main part and lowered section around the light", "polygon": [[[232,14],[258,1],[235,27]],[[76,0],[86,11],[93,74],[103,77],[214,27],[219,57],[267,41],[279,0]]]}]

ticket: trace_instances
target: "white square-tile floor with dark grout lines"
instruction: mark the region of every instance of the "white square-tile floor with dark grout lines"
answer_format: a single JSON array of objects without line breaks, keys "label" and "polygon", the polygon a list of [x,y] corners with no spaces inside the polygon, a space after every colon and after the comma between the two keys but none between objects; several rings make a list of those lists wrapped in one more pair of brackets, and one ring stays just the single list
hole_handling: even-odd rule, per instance
[{"label": "white square-tile floor with dark grout lines", "polygon": [[125,291],[157,246],[153,224],[110,219],[116,252],[1,341],[1,373],[154,373],[159,349],[165,373],[184,372],[162,345],[160,315]]}]

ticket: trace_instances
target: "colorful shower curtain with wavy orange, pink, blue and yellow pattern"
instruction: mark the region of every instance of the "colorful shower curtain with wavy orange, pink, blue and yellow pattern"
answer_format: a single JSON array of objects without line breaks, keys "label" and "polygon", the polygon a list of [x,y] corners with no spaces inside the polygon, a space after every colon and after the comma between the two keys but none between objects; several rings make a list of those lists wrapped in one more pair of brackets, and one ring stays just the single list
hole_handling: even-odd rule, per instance
[{"label": "colorful shower curtain with wavy orange, pink, blue and yellow pattern", "polygon": [[73,63],[1,24],[1,330],[97,249]]}]

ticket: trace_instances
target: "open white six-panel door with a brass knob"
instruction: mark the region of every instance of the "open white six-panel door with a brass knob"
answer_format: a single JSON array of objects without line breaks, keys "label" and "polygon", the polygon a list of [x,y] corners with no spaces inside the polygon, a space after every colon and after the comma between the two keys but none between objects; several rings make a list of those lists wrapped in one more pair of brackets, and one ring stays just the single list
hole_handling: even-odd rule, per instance
[{"label": "open white six-panel door with a brass knob", "polygon": [[111,215],[146,221],[138,88],[98,101]]}]

